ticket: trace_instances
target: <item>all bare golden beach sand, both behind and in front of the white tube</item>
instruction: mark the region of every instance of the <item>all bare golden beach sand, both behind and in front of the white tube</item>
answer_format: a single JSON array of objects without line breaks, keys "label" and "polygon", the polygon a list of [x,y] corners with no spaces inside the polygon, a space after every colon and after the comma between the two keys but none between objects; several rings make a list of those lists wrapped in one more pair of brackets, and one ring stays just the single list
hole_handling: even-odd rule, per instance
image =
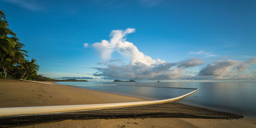
[{"label": "all bare golden beach sand, both behind and in front of the white tube", "polygon": [[[3,108],[14,106],[93,104],[145,100],[136,97],[121,96],[104,92],[78,89],[74,87],[62,86],[57,84],[55,85],[33,83],[19,80],[0,79],[0,101],[0,107]],[[169,105],[177,106],[178,109],[176,107],[175,110],[177,112],[179,111],[179,108],[183,108],[183,110],[181,110],[179,113],[189,113],[190,115],[207,115],[207,113],[216,113],[216,115],[222,114],[188,105],[175,103]],[[152,106],[148,107],[150,107],[152,110],[155,109]],[[186,112],[184,110],[186,110]],[[195,110],[197,110],[196,114],[193,112]],[[112,110],[112,112],[115,111],[117,110]],[[208,114],[208,116],[209,115],[210,114]],[[24,126],[20,127],[256,127],[255,119],[212,119],[211,117],[212,115],[209,116],[209,118],[207,117],[208,119],[203,119],[202,117],[178,118],[169,115],[164,118],[161,118],[161,116],[158,118],[148,116],[147,118],[116,119],[72,118],[61,121],[49,121],[40,123],[35,122],[34,124],[23,124]]]}]

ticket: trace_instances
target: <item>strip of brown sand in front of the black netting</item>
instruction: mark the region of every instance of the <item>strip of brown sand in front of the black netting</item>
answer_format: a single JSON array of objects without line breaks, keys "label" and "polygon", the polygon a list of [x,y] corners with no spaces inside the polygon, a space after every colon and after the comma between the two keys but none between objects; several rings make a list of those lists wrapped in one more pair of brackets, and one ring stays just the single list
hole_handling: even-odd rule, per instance
[{"label": "strip of brown sand in front of the black netting", "polygon": [[94,119],[65,120],[22,127],[256,127],[252,119],[193,119],[193,118],[144,118],[144,119]]}]

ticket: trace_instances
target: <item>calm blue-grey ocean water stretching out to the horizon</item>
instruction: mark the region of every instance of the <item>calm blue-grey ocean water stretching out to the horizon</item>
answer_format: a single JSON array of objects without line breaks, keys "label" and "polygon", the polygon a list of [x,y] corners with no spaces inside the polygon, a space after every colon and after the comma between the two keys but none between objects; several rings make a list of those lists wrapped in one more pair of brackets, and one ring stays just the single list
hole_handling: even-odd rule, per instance
[{"label": "calm blue-grey ocean water stretching out to the horizon", "polygon": [[[118,84],[127,86],[77,86],[103,92],[136,96],[145,99],[167,99],[181,96],[193,89],[196,93],[178,101],[212,110],[242,114],[256,118],[256,82],[57,82],[69,85]],[[136,87],[139,86],[139,87]],[[141,87],[150,86],[150,87]]]}]

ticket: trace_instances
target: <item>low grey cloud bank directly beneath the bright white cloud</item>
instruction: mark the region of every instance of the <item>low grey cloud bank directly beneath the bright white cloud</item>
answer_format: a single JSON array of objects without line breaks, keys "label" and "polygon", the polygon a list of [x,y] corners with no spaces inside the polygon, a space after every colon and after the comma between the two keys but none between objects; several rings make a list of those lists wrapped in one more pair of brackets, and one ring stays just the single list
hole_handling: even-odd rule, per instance
[{"label": "low grey cloud bank directly beneath the bright white cloud", "polygon": [[198,58],[184,60],[176,63],[163,62],[158,65],[151,66],[148,66],[142,62],[136,62],[134,65],[122,66],[109,63],[106,65],[106,68],[94,68],[98,70],[98,73],[93,75],[122,79],[180,79],[183,77],[183,71],[186,68],[196,67],[202,64],[203,61]]}]

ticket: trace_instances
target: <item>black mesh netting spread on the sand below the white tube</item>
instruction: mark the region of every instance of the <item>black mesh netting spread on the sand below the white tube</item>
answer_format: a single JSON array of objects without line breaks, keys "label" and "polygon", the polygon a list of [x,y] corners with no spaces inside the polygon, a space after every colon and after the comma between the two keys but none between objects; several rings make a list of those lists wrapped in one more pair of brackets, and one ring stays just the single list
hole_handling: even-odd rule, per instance
[{"label": "black mesh netting spread on the sand below the white tube", "polygon": [[0,127],[25,126],[63,120],[118,119],[118,118],[205,118],[239,119],[242,115],[217,112],[176,102],[132,106],[127,108],[67,112],[60,114],[0,117]]}]

